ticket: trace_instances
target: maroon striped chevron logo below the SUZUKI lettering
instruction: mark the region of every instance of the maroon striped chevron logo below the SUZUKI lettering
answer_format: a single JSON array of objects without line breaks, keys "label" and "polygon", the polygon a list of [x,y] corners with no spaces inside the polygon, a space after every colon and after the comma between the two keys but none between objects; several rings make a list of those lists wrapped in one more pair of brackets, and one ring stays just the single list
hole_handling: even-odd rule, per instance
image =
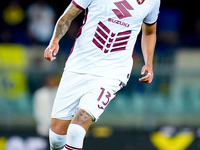
[{"label": "maroon striped chevron logo below the SUZUKI lettering", "polygon": [[126,50],[131,30],[114,33],[101,21],[98,23],[92,42],[104,53]]}]

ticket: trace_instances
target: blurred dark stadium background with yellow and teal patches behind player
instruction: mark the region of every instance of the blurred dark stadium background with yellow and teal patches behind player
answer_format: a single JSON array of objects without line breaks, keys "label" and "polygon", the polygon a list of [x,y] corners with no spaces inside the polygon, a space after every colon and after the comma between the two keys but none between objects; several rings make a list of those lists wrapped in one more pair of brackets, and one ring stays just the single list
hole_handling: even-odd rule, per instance
[{"label": "blurred dark stadium background with yellow and teal patches behind player", "polygon": [[[55,62],[43,51],[70,1],[0,2],[0,150],[46,150],[36,132],[33,95],[48,74],[60,79],[82,13],[62,39]],[[39,12],[39,13],[38,13]],[[85,150],[200,150],[200,10],[190,1],[161,0],[151,85],[138,82],[140,40],[128,85],[90,129]],[[45,106],[43,106],[45,109]]]}]

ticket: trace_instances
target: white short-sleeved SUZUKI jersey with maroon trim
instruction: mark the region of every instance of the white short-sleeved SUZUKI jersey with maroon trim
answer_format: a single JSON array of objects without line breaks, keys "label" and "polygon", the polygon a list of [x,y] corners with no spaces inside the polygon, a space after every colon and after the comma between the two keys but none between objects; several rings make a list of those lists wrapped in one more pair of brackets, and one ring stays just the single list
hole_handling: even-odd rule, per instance
[{"label": "white short-sleeved SUZUKI jersey with maroon trim", "polygon": [[86,9],[65,70],[127,83],[133,49],[143,22],[157,21],[160,0],[73,0]]}]

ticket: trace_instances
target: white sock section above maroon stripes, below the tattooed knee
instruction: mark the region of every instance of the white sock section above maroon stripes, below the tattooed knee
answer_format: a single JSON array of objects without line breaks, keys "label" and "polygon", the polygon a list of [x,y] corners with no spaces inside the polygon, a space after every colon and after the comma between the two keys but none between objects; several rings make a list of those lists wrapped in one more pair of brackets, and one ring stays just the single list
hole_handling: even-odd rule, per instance
[{"label": "white sock section above maroon stripes, below the tattooed knee", "polygon": [[70,124],[67,130],[67,144],[73,147],[82,147],[85,129],[77,124]]}]

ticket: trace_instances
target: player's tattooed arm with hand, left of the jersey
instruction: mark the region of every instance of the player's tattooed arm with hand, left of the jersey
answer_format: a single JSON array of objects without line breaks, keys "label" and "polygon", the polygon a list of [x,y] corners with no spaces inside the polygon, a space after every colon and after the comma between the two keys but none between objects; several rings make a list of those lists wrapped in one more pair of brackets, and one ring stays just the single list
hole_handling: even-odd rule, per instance
[{"label": "player's tattooed arm with hand, left of the jersey", "polygon": [[77,8],[73,3],[67,7],[64,13],[58,19],[53,36],[49,43],[49,46],[44,51],[44,58],[49,61],[56,59],[55,55],[59,50],[59,41],[68,31],[71,22],[82,12],[81,9]]}]

